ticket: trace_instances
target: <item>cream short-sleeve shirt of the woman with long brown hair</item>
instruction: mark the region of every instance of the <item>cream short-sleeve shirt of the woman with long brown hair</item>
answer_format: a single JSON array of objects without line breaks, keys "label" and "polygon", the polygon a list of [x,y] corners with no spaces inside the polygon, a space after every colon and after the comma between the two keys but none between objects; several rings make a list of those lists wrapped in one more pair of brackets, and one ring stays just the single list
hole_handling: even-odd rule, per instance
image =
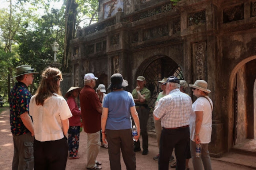
[{"label": "cream short-sleeve shirt of the woman with long brown hair", "polygon": [[44,106],[35,103],[35,95],[29,103],[37,141],[56,141],[64,137],[61,120],[72,117],[66,100],[53,93],[44,101]]}]

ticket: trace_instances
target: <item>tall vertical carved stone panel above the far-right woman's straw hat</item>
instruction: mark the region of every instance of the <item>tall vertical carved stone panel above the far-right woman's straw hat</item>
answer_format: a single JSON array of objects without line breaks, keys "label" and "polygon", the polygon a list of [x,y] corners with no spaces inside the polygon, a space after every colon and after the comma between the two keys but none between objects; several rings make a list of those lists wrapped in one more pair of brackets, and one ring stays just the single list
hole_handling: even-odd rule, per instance
[{"label": "tall vertical carved stone panel above the far-right woman's straw hat", "polygon": [[206,42],[193,44],[193,62],[195,62],[196,79],[204,79],[206,76]]}]

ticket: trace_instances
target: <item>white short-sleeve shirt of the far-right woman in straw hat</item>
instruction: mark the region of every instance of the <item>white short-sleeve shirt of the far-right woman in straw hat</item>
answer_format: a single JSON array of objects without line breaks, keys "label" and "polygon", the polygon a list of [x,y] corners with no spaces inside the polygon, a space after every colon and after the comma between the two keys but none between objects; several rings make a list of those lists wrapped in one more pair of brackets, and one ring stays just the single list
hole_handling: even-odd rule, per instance
[{"label": "white short-sleeve shirt of the far-right woman in straw hat", "polygon": [[190,139],[195,142],[195,130],[196,130],[196,111],[203,111],[202,125],[199,131],[200,143],[210,143],[211,142],[211,131],[212,131],[212,101],[206,96],[210,102],[204,98],[199,97],[192,105],[192,112],[190,115],[189,129],[190,129]]}]

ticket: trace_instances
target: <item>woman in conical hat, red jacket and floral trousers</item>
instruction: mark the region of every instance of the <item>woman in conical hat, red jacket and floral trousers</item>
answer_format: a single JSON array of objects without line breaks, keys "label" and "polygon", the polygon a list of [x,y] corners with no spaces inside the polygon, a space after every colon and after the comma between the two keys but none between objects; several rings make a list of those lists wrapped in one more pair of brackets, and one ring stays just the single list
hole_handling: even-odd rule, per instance
[{"label": "woman in conical hat, red jacket and floral trousers", "polygon": [[69,109],[72,113],[72,117],[69,118],[69,129],[68,129],[68,152],[69,159],[78,159],[78,148],[79,148],[79,136],[80,136],[80,124],[81,124],[81,111],[76,104],[76,98],[81,91],[80,87],[70,87],[65,94]]}]

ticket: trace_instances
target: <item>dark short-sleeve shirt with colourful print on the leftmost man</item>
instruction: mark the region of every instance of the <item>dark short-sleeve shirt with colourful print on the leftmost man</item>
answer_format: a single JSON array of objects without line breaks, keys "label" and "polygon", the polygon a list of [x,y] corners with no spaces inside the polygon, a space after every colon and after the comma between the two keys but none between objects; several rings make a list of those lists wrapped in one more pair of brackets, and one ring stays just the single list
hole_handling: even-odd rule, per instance
[{"label": "dark short-sleeve shirt with colourful print on the leftmost man", "polygon": [[20,115],[29,111],[29,102],[31,94],[26,84],[22,82],[15,83],[9,98],[10,104],[10,124],[11,132],[14,135],[23,135],[29,133],[29,130],[23,124]]}]

